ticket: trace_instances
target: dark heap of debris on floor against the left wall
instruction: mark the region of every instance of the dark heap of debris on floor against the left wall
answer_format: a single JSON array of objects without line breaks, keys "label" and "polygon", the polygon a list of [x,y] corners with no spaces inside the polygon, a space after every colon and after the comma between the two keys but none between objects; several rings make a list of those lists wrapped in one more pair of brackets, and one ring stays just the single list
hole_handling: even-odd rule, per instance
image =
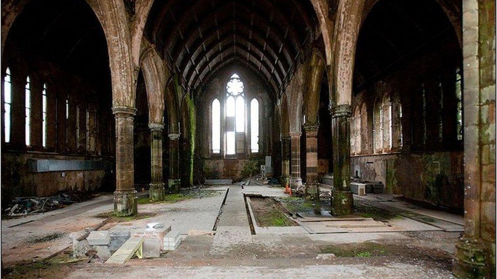
[{"label": "dark heap of debris on floor against the left wall", "polygon": [[10,206],[3,213],[9,216],[22,216],[47,212],[90,198],[91,195],[80,191],[59,191],[51,197],[18,197],[12,200]]}]

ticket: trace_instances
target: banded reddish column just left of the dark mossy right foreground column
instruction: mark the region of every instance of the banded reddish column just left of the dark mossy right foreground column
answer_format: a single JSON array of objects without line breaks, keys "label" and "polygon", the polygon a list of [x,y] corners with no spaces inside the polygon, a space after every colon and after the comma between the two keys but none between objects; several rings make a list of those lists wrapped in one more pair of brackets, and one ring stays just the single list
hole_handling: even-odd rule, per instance
[{"label": "banded reddish column just left of the dark mossy right foreground column", "polygon": [[318,129],[316,123],[306,123],[306,199],[319,201]]}]

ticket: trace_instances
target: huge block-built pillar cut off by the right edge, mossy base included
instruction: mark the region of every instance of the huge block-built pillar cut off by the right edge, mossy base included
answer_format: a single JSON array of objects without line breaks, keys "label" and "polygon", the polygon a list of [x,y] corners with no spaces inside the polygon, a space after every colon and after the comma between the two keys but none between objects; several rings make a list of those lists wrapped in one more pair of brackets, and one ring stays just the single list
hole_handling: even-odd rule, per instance
[{"label": "huge block-built pillar cut off by the right edge, mossy base included", "polygon": [[464,233],[452,271],[495,278],[495,2],[462,2]]}]

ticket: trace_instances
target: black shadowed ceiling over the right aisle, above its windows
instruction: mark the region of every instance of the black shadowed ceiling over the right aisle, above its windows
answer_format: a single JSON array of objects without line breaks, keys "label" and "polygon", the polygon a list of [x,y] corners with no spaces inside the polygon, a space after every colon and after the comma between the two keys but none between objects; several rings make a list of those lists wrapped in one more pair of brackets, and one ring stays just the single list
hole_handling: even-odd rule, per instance
[{"label": "black shadowed ceiling over the right aisle, above its windows", "polygon": [[378,1],[364,20],[357,41],[356,92],[440,46],[446,50],[444,55],[460,53],[454,27],[436,1]]}]

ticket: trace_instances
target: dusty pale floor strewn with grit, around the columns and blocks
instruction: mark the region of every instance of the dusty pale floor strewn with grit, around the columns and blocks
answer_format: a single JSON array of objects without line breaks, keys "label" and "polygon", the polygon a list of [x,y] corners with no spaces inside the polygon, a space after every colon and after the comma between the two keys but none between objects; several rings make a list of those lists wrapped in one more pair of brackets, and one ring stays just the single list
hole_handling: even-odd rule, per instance
[{"label": "dusty pale floor strewn with grit, around the columns and blocks", "polygon": [[[292,233],[281,227],[282,231],[278,233],[254,235],[243,194],[284,198],[282,189],[258,185],[243,189],[240,185],[212,189],[219,193],[177,202],[140,204],[139,211],[144,218],[139,220],[107,220],[102,223],[105,219],[96,216],[112,210],[112,195],[40,215],[3,220],[2,275],[24,278],[452,276],[454,243],[460,234],[455,224],[462,222],[461,216],[392,200],[388,205],[396,213],[408,209],[429,217],[422,220],[428,223],[420,223],[424,224],[423,228],[436,226],[439,224],[436,222],[444,220],[454,226],[377,232],[353,228],[346,233],[312,233],[301,227],[297,228],[302,232]],[[222,206],[225,196],[226,202]],[[382,203],[391,198],[385,197],[368,196],[366,199],[370,204],[378,203],[378,207],[384,207]],[[357,202],[365,199],[354,198]],[[400,218],[394,227],[417,224],[412,219],[399,222]],[[74,262],[69,255],[56,253],[70,244],[68,234],[73,231],[87,227],[133,230],[157,221],[171,225],[183,238],[176,251],[164,253],[157,259],[132,259],[122,266],[109,266],[98,261],[87,263],[86,259]],[[214,235],[187,235],[190,229],[212,231],[214,227]],[[56,256],[46,260],[53,255]]]}]

